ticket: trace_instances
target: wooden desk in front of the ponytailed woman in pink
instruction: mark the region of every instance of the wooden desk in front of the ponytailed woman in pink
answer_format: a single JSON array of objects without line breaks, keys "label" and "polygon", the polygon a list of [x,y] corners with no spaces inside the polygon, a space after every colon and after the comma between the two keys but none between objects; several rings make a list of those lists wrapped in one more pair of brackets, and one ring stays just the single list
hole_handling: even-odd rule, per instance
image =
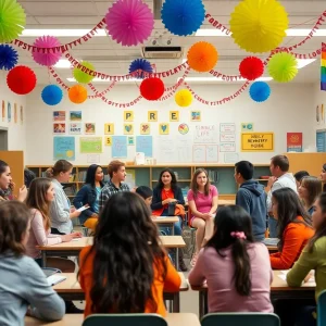
[{"label": "wooden desk in front of the ponytailed woman in pink", "polygon": [[[304,283],[301,287],[291,288],[288,286],[285,279],[279,277],[281,271],[273,271],[273,283],[271,285],[271,300],[275,301],[278,299],[313,299],[315,296],[315,283]],[[199,291],[199,317],[209,312],[209,301],[208,301],[208,285],[201,287],[192,287],[195,291]]]}]

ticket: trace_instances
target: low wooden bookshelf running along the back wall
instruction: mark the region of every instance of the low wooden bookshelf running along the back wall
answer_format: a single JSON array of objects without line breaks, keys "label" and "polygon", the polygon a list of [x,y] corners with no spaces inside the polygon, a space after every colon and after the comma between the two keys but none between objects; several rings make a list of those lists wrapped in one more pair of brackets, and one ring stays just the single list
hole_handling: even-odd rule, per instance
[{"label": "low wooden bookshelf running along the back wall", "polygon": [[[45,172],[50,165],[28,165],[36,176],[45,176]],[[108,170],[103,167],[105,180],[108,177]],[[163,168],[170,167],[173,170],[178,179],[178,184],[183,189],[184,196],[187,196],[187,191],[190,187],[191,177],[195,171],[199,167],[203,167],[209,172],[211,183],[217,187],[220,198],[229,200],[235,199],[238,185],[235,181],[235,165],[234,164],[168,164],[168,165],[126,165],[126,173],[131,173],[135,176],[136,186],[155,187],[160,173]],[[75,165],[73,168],[72,179],[68,184],[64,184],[64,190],[67,191],[68,198],[73,199],[76,192],[83,187],[86,171],[88,165]],[[262,179],[261,176],[269,175],[268,164],[254,164],[254,179],[262,185],[266,186],[267,179]]]}]

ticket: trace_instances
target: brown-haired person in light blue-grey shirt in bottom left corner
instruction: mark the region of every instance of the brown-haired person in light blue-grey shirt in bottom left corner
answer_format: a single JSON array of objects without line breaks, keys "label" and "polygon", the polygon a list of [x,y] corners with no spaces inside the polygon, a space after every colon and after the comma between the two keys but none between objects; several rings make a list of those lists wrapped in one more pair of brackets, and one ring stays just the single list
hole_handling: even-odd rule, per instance
[{"label": "brown-haired person in light blue-grey shirt in bottom left corner", "polygon": [[0,325],[23,326],[28,313],[58,321],[64,315],[63,300],[48,285],[43,272],[25,255],[30,214],[17,201],[0,203]]}]

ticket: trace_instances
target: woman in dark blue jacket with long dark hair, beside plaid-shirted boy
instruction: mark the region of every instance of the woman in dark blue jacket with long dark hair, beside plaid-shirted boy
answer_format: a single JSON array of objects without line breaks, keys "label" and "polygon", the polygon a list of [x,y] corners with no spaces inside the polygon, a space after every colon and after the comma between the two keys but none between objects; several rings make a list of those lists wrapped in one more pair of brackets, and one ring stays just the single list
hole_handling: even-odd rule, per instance
[{"label": "woman in dark blue jacket with long dark hair, beside plaid-shirted boy", "polygon": [[77,192],[73,200],[73,204],[76,209],[88,204],[89,209],[82,212],[79,215],[79,222],[82,225],[89,217],[99,217],[99,199],[103,184],[103,170],[102,166],[91,164],[86,172],[85,185]]}]

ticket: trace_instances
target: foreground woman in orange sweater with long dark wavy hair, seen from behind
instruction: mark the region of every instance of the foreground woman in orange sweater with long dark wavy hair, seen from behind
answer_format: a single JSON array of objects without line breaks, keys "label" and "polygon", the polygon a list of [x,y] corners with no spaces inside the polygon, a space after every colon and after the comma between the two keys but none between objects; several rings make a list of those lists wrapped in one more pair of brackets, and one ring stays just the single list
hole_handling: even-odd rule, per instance
[{"label": "foreground woman in orange sweater with long dark wavy hair, seen from behind", "polygon": [[117,192],[100,213],[93,244],[79,255],[84,316],[92,313],[158,313],[165,316],[164,292],[176,292],[180,276],[160,243],[145,201]]}]

